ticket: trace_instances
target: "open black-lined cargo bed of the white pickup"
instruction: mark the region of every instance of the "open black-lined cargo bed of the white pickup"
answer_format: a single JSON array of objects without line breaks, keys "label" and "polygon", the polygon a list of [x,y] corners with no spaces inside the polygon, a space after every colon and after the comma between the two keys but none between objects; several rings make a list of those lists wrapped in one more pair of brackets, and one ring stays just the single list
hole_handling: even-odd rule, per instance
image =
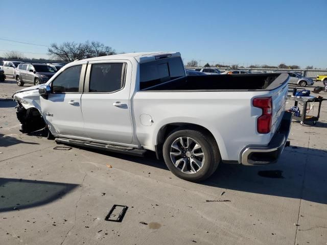
[{"label": "open black-lined cargo bed of the white pickup", "polygon": [[273,90],[288,80],[287,74],[235,74],[207,75],[174,79],[168,82],[157,80],[141,83],[142,91],[158,90]]}]

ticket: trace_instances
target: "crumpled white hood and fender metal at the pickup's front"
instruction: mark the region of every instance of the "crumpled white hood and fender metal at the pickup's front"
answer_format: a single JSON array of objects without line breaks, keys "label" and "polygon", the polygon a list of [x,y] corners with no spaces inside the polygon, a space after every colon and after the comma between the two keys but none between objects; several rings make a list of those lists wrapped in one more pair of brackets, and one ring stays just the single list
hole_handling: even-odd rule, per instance
[{"label": "crumpled white hood and fender metal at the pickup's front", "polygon": [[43,84],[28,87],[16,91],[12,97],[18,101],[25,109],[35,107],[41,112],[39,87]]}]

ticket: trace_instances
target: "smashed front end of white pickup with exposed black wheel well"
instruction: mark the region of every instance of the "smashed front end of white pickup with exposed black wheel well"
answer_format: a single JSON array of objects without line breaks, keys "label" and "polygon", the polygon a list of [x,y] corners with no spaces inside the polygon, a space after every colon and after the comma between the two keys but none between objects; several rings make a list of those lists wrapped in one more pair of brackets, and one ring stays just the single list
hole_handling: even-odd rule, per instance
[{"label": "smashed front end of white pickup with exposed black wheel well", "polygon": [[17,119],[20,121],[20,131],[30,133],[44,128],[45,122],[41,113],[38,86],[22,89],[13,94],[17,102]]}]

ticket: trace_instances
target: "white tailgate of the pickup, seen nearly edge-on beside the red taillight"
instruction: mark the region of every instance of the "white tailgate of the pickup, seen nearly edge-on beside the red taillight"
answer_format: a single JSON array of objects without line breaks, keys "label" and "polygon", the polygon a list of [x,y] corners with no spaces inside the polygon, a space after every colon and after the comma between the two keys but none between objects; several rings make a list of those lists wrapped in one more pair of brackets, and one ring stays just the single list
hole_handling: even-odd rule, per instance
[{"label": "white tailgate of the pickup, seen nearly edge-on beside the red taillight", "polygon": [[285,84],[282,88],[279,87],[271,91],[271,96],[272,96],[271,136],[276,132],[279,124],[283,119],[286,100],[287,100],[287,93],[288,93],[288,84]]}]

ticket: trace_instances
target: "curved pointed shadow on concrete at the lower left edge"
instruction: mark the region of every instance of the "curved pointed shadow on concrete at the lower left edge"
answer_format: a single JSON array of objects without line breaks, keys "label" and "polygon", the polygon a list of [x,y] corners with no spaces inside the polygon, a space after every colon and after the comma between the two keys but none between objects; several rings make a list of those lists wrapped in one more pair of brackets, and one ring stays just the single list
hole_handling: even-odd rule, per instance
[{"label": "curved pointed shadow on concrete at the lower left edge", "polygon": [[78,184],[0,178],[0,212],[51,203],[77,186]]}]

